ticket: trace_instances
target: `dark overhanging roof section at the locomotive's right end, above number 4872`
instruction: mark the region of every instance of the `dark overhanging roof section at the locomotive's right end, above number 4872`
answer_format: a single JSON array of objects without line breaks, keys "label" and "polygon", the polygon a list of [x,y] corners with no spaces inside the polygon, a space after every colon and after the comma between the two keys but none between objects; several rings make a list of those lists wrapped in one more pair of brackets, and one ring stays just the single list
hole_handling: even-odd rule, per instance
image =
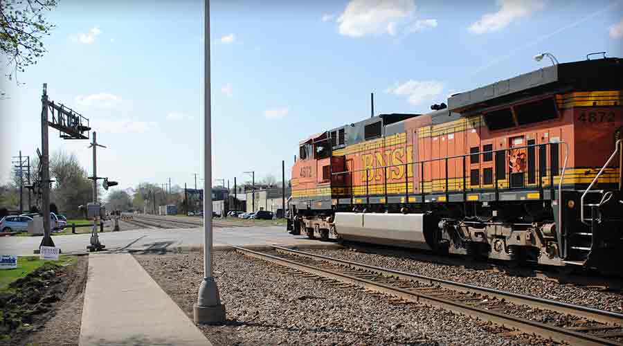
[{"label": "dark overhanging roof section at the locomotive's right end, above number 4872", "polygon": [[490,107],[521,97],[554,91],[623,89],[623,60],[608,57],[544,67],[448,98],[449,111]]}]

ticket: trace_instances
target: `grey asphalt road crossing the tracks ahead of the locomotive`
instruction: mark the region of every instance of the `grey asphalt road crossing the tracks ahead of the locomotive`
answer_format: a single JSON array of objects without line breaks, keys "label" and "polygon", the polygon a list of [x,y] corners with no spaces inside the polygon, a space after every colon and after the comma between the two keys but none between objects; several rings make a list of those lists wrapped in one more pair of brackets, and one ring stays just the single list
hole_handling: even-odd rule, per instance
[{"label": "grey asphalt road crossing the tracks ahead of the locomotive", "polygon": [[[300,245],[319,244],[305,236],[289,235],[285,227],[219,227],[214,230],[214,246]],[[163,251],[166,248],[202,247],[203,228],[136,229],[99,233],[100,242],[108,251]],[[0,237],[0,255],[33,255],[42,237]],[[85,253],[90,234],[55,235],[52,238],[62,253]]]}]

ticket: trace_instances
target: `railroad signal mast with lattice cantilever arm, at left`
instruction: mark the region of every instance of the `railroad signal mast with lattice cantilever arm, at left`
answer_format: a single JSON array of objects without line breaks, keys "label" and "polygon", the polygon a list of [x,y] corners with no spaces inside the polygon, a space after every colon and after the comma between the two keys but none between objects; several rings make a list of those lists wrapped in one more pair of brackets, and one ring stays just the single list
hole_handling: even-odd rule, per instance
[{"label": "railroad signal mast with lattice cantilever arm, at left", "polygon": [[[54,246],[50,236],[50,154],[48,147],[48,126],[59,131],[60,138],[63,139],[89,139],[89,119],[84,118],[78,112],[63,104],[55,104],[48,100],[48,84],[43,84],[41,96],[41,148],[40,157],[41,176],[39,187],[42,192],[42,214],[44,224],[44,237],[41,246]],[[51,118],[48,118],[48,115]],[[94,133],[93,133],[94,135]],[[93,138],[95,141],[95,138]]]}]

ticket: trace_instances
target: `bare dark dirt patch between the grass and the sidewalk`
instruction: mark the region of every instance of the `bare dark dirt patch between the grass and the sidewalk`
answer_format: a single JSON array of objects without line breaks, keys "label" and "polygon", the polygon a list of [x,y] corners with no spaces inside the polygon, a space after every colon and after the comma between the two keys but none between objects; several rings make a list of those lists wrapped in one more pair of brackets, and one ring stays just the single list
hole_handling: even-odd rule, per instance
[{"label": "bare dark dirt patch between the grass and the sidewalk", "polygon": [[70,266],[44,264],[11,284],[0,299],[5,345],[78,345],[88,257]]}]

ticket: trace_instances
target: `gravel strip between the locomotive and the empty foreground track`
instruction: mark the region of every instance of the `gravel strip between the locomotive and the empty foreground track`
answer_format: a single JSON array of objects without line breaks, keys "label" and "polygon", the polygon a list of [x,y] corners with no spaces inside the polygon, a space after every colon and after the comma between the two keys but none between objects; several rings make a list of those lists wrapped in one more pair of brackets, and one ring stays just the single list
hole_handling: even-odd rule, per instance
[{"label": "gravel strip between the locomotive and the empty foreground track", "polygon": [[623,312],[623,293],[620,291],[601,291],[598,288],[576,286],[574,284],[559,284],[537,277],[512,276],[503,272],[422,262],[396,255],[366,253],[351,249],[305,249],[304,251],[341,260],[404,271],[406,273],[437,277],[513,293],[534,295],[539,298],[584,305],[596,309]]}]

